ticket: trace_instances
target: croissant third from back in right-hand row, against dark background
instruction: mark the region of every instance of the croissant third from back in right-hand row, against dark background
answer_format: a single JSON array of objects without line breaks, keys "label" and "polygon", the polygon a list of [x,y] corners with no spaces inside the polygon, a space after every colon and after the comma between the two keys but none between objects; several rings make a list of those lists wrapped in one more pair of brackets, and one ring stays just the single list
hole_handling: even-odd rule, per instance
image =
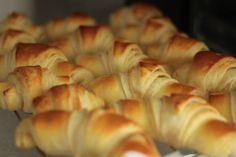
[{"label": "croissant third from back in right-hand row, against dark background", "polygon": [[157,58],[162,63],[177,68],[191,62],[199,51],[208,50],[207,46],[198,40],[176,33],[162,44],[154,43],[146,46],[147,55]]}]

